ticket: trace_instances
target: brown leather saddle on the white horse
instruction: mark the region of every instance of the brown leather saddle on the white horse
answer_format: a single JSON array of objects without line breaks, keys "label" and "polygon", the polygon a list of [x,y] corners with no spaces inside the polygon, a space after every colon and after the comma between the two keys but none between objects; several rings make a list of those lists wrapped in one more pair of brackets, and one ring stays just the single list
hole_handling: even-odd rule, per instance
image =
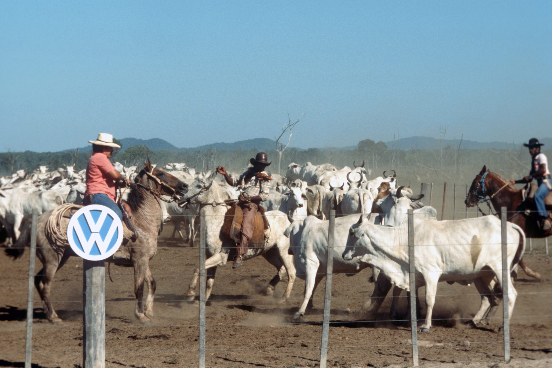
[{"label": "brown leather saddle on the white horse", "polygon": [[[243,220],[243,212],[240,206],[232,204],[230,209],[226,211],[224,224],[222,225],[222,234],[232,239],[236,243],[240,243],[240,231]],[[254,221],[255,230],[249,241],[249,246],[252,248],[264,248],[264,232],[270,228],[264,208],[259,205],[259,209],[255,214]]]}]

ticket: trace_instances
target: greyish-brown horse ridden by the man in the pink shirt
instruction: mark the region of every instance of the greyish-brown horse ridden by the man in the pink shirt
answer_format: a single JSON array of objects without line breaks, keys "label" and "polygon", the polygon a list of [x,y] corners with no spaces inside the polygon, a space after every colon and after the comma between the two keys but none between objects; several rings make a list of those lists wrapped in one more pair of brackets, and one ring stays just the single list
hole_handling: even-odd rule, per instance
[{"label": "greyish-brown horse ridden by the man in the pink shirt", "polygon": [[[161,227],[162,213],[160,200],[162,195],[168,195],[179,199],[184,185],[173,175],[163,170],[154,168],[147,159],[144,169],[140,171],[131,184],[127,202],[132,210],[130,221],[139,238],[135,243],[130,243],[130,259],[134,266],[134,294],[136,296],[135,316],[142,323],[150,322],[153,317],[153,295],[155,294],[155,280],[151,275],[150,260],[157,251],[157,234]],[[35,286],[43,301],[44,312],[50,322],[60,322],[50,301],[50,288],[56,272],[72,255],[75,255],[71,247],[65,244],[50,243],[45,235],[45,226],[52,211],[47,211],[38,217],[36,231],[36,255],[43,264],[43,268],[35,276]],[[157,219],[157,220],[156,220]],[[67,227],[68,218],[63,218],[60,227]],[[30,223],[26,224],[22,236],[13,248],[6,249],[11,257],[18,258],[23,255],[25,246],[30,242]],[[148,294],[144,302],[144,282],[148,286]]]}]

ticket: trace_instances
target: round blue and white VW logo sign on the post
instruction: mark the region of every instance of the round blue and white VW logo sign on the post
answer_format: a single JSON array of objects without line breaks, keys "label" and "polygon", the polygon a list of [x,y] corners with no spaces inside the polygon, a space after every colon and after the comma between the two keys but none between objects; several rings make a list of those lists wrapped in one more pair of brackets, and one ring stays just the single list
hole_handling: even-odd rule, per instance
[{"label": "round blue and white VW logo sign on the post", "polygon": [[109,207],[88,205],[69,220],[67,240],[75,253],[84,259],[106,259],[123,241],[123,222]]}]

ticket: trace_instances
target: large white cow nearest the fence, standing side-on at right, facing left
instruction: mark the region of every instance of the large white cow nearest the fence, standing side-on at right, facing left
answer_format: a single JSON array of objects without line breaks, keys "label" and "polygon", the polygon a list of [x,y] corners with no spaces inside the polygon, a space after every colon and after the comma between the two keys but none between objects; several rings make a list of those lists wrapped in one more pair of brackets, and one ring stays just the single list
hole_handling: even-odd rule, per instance
[{"label": "large white cow nearest the fence, standing side-on at right, facing left", "polygon": [[[415,219],[416,286],[426,286],[426,320],[420,332],[429,332],[437,283],[439,281],[473,282],[481,294],[481,306],[473,318],[477,324],[489,311],[493,278],[502,288],[501,222],[493,216],[456,221]],[[525,234],[512,223],[507,224],[508,264],[512,270],[523,257]],[[373,225],[360,215],[351,226],[343,259],[368,263],[381,270],[395,285],[410,290],[408,274],[408,227]],[[492,272],[489,272],[491,270]],[[517,292],[507,279],[509,315],[512,317]]]}]

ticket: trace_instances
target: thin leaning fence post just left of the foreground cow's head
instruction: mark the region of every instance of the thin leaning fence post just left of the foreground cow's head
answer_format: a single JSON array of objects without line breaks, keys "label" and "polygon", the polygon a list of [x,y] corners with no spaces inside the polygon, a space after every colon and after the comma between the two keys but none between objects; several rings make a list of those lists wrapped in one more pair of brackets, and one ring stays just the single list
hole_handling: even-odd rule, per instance
[{"label": "thin leaning fence post just left of the foreground cow's head", "polygon": [[324,295],[322,342],[320,344],[320,368],[326,368],[326,362],[328,358],[328,337],[330,334],[330,302],[332,301],[333,242],[335,239],[335,230],[336,210],[331,210],[330,224],[328,225],[328,248],[326,250],[326,292]]}]

